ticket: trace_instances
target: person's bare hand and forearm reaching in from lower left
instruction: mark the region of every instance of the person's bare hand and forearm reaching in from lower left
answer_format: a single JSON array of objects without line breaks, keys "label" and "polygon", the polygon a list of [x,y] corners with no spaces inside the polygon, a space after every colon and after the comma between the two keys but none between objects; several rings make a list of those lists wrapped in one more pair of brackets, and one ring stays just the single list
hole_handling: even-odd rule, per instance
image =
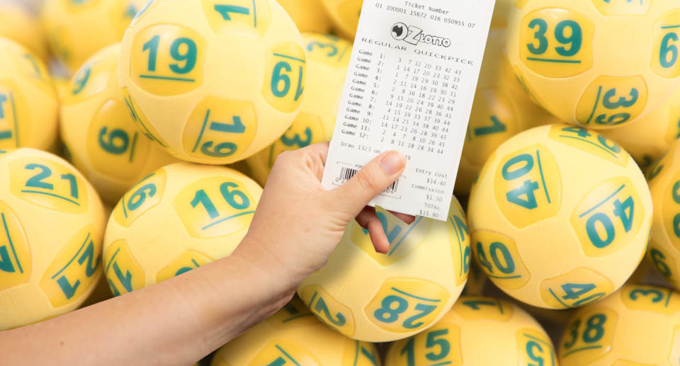
[{"label": "person's bare hand and forearm reaching in from lower left", "polygon": [[[322,268],[355,219],[376,251],[389,242],[366,205],[402,173],[388,151],[334,190],[320,183],[328,144],[281,154],[248,234],[231,256],[38,324],[0,332],[6,365],[191,365],[283,307]],[[406,222],[413,217],[398,215]]]}]

